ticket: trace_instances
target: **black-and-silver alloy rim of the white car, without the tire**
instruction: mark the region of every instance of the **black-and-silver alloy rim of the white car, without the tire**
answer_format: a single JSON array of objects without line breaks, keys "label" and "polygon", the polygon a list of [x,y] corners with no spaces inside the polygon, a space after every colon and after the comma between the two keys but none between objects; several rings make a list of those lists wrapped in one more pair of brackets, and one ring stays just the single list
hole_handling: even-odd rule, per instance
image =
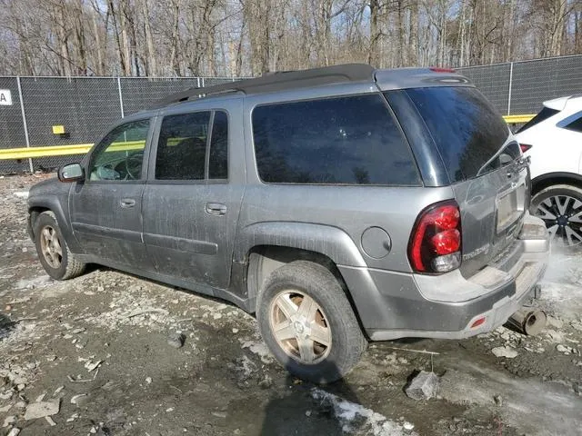
[{"label": "black-and-silver alloy rim of the white car, without the tire", "polygon": [[572,247],[582,243],[582,202],[569,195],[553,195],[537,205],[552,243]]}]

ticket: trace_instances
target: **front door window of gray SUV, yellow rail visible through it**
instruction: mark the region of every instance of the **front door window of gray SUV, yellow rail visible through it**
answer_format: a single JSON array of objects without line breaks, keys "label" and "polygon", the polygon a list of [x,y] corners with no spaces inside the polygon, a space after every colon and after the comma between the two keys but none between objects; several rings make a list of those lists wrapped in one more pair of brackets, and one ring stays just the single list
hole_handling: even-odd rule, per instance
[{"label": "front door window of gray SUV, yellow rail visible through it", "polygon": [[122,124],[109,132],[89,163],[89,180],[139,180],[149,120]]}]

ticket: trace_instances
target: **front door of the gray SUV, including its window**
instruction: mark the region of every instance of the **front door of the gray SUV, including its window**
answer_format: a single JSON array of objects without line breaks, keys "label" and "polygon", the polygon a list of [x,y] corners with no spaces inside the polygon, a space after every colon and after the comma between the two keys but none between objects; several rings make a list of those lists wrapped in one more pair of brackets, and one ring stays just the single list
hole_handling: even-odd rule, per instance
[{"label": "front door of the gray SUV, including its window", "polygon": [[71,223],[87,254],[151,270],[142,241],[142,195],[150,120],[113,129],[85,164],[85,181],[69,194]]}]

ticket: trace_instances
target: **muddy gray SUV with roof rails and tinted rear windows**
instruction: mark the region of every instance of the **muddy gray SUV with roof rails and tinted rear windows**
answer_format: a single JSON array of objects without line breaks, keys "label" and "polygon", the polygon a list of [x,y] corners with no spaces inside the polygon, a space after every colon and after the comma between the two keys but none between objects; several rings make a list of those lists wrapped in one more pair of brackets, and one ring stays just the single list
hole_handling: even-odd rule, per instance
[{"label": "muddy gray SUV with roof rails and tinted rear windows", "polygon": [[547,266],[527,160],[449,70],[191,89],[125,117],[58,178],[28,200],[51,277],[100,263],[233,302],[311,381],[342,377],[368,340],[488,332]]}]

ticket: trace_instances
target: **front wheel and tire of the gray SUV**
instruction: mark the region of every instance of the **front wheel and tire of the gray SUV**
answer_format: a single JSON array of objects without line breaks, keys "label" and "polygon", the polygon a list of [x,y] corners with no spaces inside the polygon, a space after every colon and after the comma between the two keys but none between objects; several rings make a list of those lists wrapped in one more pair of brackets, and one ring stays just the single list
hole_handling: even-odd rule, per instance
[{"label": "front wheel and tire of the gray SUV", "polygon": [[69,250],[54,213],[44,212],[36,218],[35,245],[40,263],[55,280],[73,279],[85,272],[85,263]]}]

